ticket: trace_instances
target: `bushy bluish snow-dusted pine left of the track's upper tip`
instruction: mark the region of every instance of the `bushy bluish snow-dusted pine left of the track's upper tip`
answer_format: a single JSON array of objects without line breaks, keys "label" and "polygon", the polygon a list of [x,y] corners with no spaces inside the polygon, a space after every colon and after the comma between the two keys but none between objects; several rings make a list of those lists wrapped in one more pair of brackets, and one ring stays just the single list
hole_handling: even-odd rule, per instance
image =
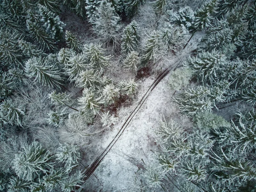
[{"label": "bushy bluish snow-dusted pine left of the track's upper tip", "polygon": [[193,25],[195,20],[195,13],[189,6],[180,8],[177,13],[168,12],[168,14],[171,22],[185,26],[187,29]]}]

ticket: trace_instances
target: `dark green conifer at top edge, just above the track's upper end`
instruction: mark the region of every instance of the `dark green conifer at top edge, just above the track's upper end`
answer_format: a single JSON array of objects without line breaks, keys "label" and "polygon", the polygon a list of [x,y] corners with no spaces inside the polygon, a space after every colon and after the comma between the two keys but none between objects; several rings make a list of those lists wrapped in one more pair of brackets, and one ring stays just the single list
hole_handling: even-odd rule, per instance
[{"label": "dark green conifer at top edge, just above the track's upper end", "polygon": [[195,30],[202,30],[205,27],[209,26],[211,20],[213,19],[212,15],[215,13],[215,7],[217,6],[217,0],[211,0],[209,3],[206,3],[201,9],[195,14],[195,23],[193,28]]}]

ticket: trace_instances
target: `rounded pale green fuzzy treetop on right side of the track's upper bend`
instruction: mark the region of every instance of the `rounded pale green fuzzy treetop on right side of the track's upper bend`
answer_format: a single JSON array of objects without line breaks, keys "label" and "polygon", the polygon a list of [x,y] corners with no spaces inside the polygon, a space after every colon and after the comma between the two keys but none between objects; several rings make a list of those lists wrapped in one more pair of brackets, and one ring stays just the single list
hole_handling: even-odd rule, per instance
[{"label": "rounded pale green fuzzy treetop on right side of the track's upper bend", "polygon": [[185,88],[189,84],[189,80],[192,77],[192,71],[190,69],[177,69],[169,77],[169,85],[172,90],[180,90]]}]

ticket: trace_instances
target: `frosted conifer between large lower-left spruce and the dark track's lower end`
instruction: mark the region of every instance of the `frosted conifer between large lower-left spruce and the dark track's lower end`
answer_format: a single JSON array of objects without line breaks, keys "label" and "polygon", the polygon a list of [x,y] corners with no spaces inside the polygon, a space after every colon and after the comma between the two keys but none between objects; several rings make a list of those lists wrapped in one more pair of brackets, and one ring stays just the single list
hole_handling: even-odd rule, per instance
[{"label": "frosted conifer between large lower-left spruce and the dark track's lower end", "polygon": [[80,153],[76,145],[62,144],[57,148],[56,157],[60,163],[64,163],[67,170],[78,164]]}]

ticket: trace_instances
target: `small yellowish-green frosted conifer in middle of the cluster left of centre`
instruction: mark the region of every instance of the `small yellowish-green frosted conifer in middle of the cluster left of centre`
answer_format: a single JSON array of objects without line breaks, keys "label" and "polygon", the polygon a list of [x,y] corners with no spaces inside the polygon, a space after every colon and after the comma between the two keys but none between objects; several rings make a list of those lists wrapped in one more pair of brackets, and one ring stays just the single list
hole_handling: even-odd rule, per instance
[{"label": "small yellowish-green frosted conifer in middle of the cluster left of centre", "polygon": [[99,85],[99,76],[100,74],[93,69],[82,71],[79,73],[79,78],[76,80],[76,85],[78,87],[95,88]]}]

